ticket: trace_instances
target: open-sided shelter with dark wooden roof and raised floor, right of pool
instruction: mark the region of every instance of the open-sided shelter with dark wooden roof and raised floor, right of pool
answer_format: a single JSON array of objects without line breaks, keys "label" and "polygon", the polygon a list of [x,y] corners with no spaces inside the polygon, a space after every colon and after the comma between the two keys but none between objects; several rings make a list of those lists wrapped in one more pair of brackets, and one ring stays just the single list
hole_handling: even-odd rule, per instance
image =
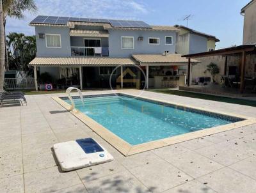
[{"label": "open-sided shelter with dark wooden roof and raised floor, right of pool", "polygon": [[[191,59],[209,58],[220,56],[224,59],[223,72],[220,72],[221,83],[209,85],[192,85],[191,76],[193,67]],[[208,93],[212,95],[227,96],[255,96],[256,94],[256,54],[255,45],[240,45],[211,52],[201,52],[182,56],[188,58],[187,86],[180,87],[184,91]],[[222,67],[222,66],[221,66]]]}]

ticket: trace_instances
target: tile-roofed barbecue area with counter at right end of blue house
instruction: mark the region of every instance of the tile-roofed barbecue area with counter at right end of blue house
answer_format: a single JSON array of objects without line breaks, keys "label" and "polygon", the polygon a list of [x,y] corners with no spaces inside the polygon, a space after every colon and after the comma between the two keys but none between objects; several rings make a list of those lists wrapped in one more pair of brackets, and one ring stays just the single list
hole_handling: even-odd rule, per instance
[{"label": "tile-roofed barbecue area with counter at right end of blue house", "polygon": [[[140,63],[141,68],[146,68],[147,89],[186,85],[188,59],[180,54],[133,54],[132,57]],[[191,59],[190,63],[195,65],[200,62]]]}]

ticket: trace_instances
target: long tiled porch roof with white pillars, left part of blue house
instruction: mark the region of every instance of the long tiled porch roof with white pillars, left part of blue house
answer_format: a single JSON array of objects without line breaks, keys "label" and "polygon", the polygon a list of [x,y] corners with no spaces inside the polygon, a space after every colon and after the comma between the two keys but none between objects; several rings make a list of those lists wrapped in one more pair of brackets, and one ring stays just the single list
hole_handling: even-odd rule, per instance
[{"label": "long tiled porch roof with white pillars, left part of blue house", "polygon": [[[113,82],[116,87],[116,76],[119,74],[122,75],[123,68],[138,65],[138,63],[132,58],[38,57],[33,59],[29,65],[34,67],[35,89],[38,91],[38,68],[40,71],[44,70],[44,72],[52,73],[54,79],[58,79],[57,81],[67,76],[66,74],[68,73],[66,72],[71,68],[72,72],[76,72],[74,75],[76,75],[79,81],[76,86],[80,89],[85,89],[90,87],[91,84],[95,85],[95,82],[98,82],[100,85],[102,85],[103,82],[109,84],[109,77],[111,75],[113,75],[111,82]],[[61,70],[64,71],[65,75],[62,75]],[[113,71],[115,72],[112,73]],[[67,79],[67,77],[65,78]],[[123,79],[121,79],[120,84],[122,88]],[[66,84],[66,87],[67,86]],[[73,85],[70,84],[69,86]],[[95,86],[95,88],[97,87]],[[63,87],[63,89],[65,88]]]}]

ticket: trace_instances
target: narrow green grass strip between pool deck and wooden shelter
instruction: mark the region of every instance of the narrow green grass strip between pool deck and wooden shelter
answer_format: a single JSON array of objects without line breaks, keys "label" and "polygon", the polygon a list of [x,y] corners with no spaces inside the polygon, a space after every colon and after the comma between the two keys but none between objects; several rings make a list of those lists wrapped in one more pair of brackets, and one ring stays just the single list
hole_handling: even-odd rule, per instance
[{"label": "narrow green grass strip between pool deck and wooden shelter", "polygon": [[225,96],[205,95],[205,94],[201,94],[201,93],[190,93],[190,92],[186,92],[186,91],[170,90],[170,89],[150,89],[148,91],[153,91],[153,92],[157,92],[157,93],[165,93],[165,94],[169,94],[169,95],[200,98],[200,99],[205,99],[205,100],[214,100],[214,101],[218,101],[218,102],[227,102],[230,104],[239,104],[239,105],[247,105],[247,106],[251,106],[251,107],[256,107],[256,101],[253,101],[253,100],[230,98],[230,97],[225,97]]}]

